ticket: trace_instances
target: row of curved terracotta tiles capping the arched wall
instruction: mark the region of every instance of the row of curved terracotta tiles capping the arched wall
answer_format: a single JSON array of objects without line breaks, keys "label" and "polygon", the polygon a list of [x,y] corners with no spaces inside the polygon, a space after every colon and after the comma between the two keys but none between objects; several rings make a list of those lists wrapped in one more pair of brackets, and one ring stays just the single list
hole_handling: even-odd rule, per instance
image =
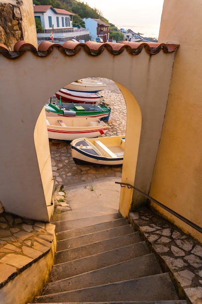
[{"label": "row of curved terracotta tiles capping the arched wall", "polygon": [[90,56],[99,56],[105,49],[109,51],[112,55],[119,55],[126,50],[131,55],[138,55],[145,49],[149,55],[155,55],[159,51],[164,53],[172,53],[177,50],[178,44],[169,43],[146,43],[146,42],[127,42],[123,41],[121,43],[98,43],[93,41],[87,41],[85,43],[79,43],[72,40],[66,41],[63,45],[58,43],[53,43],[49,41],[44,41],[38,46],[38,50],[27,43],[26,41],[18,41],[14,47],[14,51],[9,51],[9,49],[0,43],[0,54],[8,59],[17,59],[21,57],[26,51],[31,51],[39,57],[48,56],[54,48],[61,51],[66,56],[75,56],[81,49],[83,49]]}]

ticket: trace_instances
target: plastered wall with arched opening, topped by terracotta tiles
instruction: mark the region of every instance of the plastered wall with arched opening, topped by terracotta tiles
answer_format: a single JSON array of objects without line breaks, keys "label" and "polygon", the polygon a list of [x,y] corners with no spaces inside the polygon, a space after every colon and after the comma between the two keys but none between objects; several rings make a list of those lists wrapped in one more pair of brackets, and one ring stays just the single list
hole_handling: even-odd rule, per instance
[{"label": "plastered wall with arched opening, topped by terracotta tiles", "polygon": [[[122,180],[130,184],[136,180],[142,191],[147,193],[166,110],[176,46],[171,46],[171,52],[163,51],[167,46],[158,44],[155,51],[149,45],[144,48],[143,44],[140,48],[135,44],[136,49],[123,44],[106,44],[105,48],[105,45],[97,43],[86,43],[85,47],[73,43],[72,48],[71,41],[66,49],[58,45],[53,47],[51,43],[48,47],[47,44],[43,46],[36,52],[20,43],[16,47],[18,52],[12,56],[6,49],[0,49],[3,54],[0,67],[6,71],[0,74],[0,99],[9,101],[9,106],[3,103],[0,114],[0,139],[5,143],[0,159],[0,201],[5,211],[48,221],[52,170],[47,153],[48,142],[43,143],[44,153],[40,150],[40,130],[46,129],[42,111],[44,101],[64,82],[70,83],[95,73],[97,77],[113,80],[124,94],[128,117]],[[38,138],[35,136],[33,139],[37,121]],[[137,124],[141,124],[141,133],[138,128],[134,134]],[[138,152],[133,143],[139,137]],[[40,152],[36,154],[37,149]],[[131,190],[122,189],[120,209],[124,216],[127,216],[131,199]]]}]

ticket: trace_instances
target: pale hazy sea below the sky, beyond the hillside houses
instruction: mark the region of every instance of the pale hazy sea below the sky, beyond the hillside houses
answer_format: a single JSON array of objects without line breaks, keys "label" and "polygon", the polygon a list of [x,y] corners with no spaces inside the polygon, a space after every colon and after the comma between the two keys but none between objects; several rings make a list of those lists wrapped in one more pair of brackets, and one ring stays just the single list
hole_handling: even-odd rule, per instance
[{"label": "pale hazy sea below the sky, beyond the hillside houses", "polygon": [[158,24],[118,24],[119,29],[132,30],[134,33],[139,33],[143,37],[158,39],[159,28]]}]

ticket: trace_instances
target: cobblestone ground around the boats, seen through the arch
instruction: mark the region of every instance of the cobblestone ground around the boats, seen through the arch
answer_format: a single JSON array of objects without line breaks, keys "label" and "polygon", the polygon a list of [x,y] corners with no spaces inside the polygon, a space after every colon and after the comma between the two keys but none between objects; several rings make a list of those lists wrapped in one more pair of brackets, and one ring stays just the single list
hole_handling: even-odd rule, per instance
[{"label": "cobblestone ground around the boats, seen through the arch", "polygon": [[[105,78],[99,78],[99,80],[107,85],[106,89],[100,92],[100,95],[111,107],[110,118],[107,122],[109,129],[104,136],[125,135],[126,105],[123,94],[112,80]],[[76,165],[71,156],[70,142],[68,141],[50,139],[49,144],[56,185],[67,186],[104,177],[121,177],[122,175],[122,166]]]}]

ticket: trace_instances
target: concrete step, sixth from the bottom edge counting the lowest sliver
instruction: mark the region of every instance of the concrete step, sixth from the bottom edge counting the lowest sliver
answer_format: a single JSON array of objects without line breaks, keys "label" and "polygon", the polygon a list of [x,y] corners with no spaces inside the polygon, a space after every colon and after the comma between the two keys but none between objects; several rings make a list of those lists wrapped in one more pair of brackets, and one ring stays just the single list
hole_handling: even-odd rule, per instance
[{"label": "concrete step, sixth from the bottom edge counting the lowest sliver", "polygon": [[74,248],[78,246],[83,246],[91,244],[94,242],[99,242],[102,240],[107,240],[112,237],[127,235],[133,233],[134,229],[131,225],[119,226],[107,230],[102,230],[99,232],[86,234],[83,236],[77,236],[72,238],[63,239],[57,243],[57,251],[65,250],[67,248]]}]

